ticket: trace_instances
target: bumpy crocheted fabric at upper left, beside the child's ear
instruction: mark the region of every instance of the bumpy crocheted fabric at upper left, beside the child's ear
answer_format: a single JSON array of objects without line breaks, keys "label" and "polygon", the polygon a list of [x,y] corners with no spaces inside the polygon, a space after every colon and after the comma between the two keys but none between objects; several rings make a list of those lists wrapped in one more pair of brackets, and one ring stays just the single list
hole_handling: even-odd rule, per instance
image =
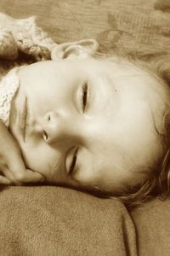
[{"label": "bumpy crocheted fabric at upper left, beside the child's ear", "polygon": [[32,55],[36,61],[50,59],[57,44],[36,24],[36,17],[13,19],[0,13],[0,58],[14,60],[19,52]]}]

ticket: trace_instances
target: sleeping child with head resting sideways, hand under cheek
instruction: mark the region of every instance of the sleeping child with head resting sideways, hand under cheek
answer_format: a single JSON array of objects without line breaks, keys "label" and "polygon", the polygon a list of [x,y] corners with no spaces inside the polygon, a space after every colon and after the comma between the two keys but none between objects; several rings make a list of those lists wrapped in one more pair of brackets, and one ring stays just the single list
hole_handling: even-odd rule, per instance
[{"label": "sleeping child with head resting sideways, hand under cheek", "polygon": [[137,204],[169,192],[169,56],[105,56],[93,39],[1,81],[1,183],[43,182]]}]

